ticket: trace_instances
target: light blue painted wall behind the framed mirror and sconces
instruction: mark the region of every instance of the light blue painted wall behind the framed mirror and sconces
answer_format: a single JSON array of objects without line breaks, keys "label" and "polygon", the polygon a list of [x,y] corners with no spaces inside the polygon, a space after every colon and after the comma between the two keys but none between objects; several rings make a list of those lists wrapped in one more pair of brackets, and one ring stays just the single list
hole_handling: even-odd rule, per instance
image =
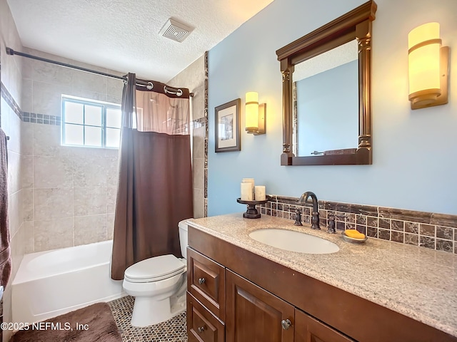
[{"label": "light blue painted wall behind the framed mirror and sconces", "polygon": [[[443,45],[457,48],[455,0],[433,6],[428,0],[376,1],[373,165],[280,165],[281,72],[275,51],[363,2],[275,0],[209,51],[210,216],[245,209],[236,202],[243,177],[266,185],[269,194],[298,197],[311,190],[328,201],[457,214],[457,54],[451,51],[447,105],[411,110],[408,101],[408,32],[438,21]],[[243,131],[248,91],[267,103],[266,135]],[[241,151],[215,153],[214,107],[236,98],[241,98]]]}]

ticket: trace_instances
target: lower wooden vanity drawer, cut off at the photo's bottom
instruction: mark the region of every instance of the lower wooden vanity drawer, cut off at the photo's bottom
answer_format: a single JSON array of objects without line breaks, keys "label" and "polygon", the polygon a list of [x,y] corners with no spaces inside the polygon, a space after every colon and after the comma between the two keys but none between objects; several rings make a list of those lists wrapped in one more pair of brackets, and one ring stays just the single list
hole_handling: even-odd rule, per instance
[{"label": "lower wooden vanity drawer, cut off at the photo's bottom", "polygon": [[187,334],[189,342],[224,342],[225,327],[194,296],[187,292]]}]

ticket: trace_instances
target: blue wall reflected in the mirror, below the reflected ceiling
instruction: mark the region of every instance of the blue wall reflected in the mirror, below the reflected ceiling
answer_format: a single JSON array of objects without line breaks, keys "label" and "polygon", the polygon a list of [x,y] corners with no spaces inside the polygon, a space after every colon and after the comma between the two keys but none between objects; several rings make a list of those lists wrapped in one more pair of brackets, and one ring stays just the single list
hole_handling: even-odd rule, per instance
[{"label": "blue wall reflected in the mirror, below the reflected ceiling", "polygon": [[358,145],[358,61],[296,82],[298,154]]}]

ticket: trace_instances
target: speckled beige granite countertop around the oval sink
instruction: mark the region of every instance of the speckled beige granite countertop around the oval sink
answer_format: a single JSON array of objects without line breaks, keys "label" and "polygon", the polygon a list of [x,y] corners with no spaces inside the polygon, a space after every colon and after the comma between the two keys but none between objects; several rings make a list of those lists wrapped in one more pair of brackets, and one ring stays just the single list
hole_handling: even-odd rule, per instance
[{"label": "speckled beige granite countertop around the oval sink", "polygon": [[[191,219],[193,227],[326,284],[457,336],[457,256],[425,247],[368,238],[345,242],[290,219],[242,213]],[[333,254],[304,254],[270,247],[248,237],[256,229],[281,228],[323,237],[338,245]]]}]

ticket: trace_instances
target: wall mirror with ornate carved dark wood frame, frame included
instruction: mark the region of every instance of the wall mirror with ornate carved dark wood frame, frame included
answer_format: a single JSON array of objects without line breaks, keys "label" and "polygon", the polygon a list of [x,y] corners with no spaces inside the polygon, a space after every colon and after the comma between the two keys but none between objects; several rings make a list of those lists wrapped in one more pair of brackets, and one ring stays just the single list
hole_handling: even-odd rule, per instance
[{"label": "wall mirror with ornate carved dark wood frame, frame included", "polygon": [[283,74],[281,165],[371,164],[371,22],[376,3],[276,51]]}]

